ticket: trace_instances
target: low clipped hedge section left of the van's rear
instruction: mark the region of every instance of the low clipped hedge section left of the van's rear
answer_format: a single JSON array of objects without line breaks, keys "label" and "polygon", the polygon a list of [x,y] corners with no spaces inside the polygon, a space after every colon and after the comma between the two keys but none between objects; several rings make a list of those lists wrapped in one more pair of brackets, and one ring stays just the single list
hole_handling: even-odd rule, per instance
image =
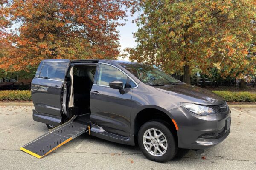
[{"label": "low clipped hedge section left of the van's rear", "polygon": [[29,90],[0,91],[0,100],[32,100]]}]

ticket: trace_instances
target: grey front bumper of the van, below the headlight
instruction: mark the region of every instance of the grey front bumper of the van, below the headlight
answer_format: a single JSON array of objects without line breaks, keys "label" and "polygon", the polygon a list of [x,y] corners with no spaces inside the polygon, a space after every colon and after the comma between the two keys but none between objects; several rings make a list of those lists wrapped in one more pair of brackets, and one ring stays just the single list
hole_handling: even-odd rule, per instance
[{"label": "grey front bumper of the van, below the headlight", "polygon": [[179,107],[169,111],[179,130],[177,130],[178,147],[186,149],[207,149],[222,142],[230,133],[227,119],[231,111],[199,116],[186,108]]}]

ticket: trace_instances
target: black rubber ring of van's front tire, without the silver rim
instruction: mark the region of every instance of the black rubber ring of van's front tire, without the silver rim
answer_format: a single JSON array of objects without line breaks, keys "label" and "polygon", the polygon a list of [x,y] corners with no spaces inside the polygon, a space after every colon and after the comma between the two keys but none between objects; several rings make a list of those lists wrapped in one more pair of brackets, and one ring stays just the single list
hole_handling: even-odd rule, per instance
[{"label": "black rubber ring of van's front tire, without the silver rim", "polygon": [[[160,130],[164,136],[166,136],[168,147],[166,150],[166,153],[163,156],[153,156],[145,149],[143,145],[143,135],[146,130],[155,128],[157,130]],[[143,155],[145,155],[148,159],[152,161],[157,162],[166,162],[171,160],[175,157],[177,153],[177,142],[175,141],[175,138],[171,132],[171,130],[168,128],[167,124],[165,122],[160,121],[149,121],[143,124],[140,127],[139,133],[138,133],[138,144],[140,147],[140,150],[142,151]]]}]

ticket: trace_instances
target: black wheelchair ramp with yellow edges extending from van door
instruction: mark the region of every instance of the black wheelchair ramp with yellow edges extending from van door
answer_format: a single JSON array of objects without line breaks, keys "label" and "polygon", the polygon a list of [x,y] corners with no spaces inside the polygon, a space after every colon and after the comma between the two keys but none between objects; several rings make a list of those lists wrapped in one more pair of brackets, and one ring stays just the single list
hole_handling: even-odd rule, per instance
[{"label": "black wheelchair ramp with yellow edges extending from van door", "polygon": [[71,120],[70,122],[49,130],[44,135],[21,147],[20,150],[40,159],[87,131],[89,131],[90,134],[90,122],[86,122],[84,117],[82,122]]}]

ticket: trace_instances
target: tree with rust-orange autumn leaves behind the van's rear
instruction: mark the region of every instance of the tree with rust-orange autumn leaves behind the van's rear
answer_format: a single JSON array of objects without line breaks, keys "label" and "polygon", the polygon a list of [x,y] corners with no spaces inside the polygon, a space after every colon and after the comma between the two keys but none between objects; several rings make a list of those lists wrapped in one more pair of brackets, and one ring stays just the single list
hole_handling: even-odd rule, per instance
[{"label": "tree with rust-orange autumn leaves behind the van's rear", "polygon": [[0,68],[37,67],[42,59],[116,59],[117,26],[129,0],[0,0],[0,43],[15,50]]}]

